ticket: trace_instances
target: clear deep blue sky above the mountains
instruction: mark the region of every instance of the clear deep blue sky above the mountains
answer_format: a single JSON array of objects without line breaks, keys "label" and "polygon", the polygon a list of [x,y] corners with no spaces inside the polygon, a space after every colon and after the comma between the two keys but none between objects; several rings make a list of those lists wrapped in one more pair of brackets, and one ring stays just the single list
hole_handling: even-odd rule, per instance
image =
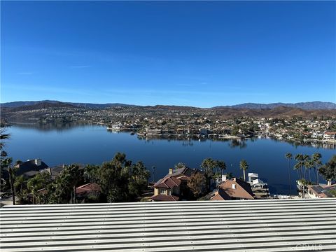
[{"label": "clear deep blue sky above the mountains", "polygon": [[1,1],[1,102],[335,102],[335,1]]}]

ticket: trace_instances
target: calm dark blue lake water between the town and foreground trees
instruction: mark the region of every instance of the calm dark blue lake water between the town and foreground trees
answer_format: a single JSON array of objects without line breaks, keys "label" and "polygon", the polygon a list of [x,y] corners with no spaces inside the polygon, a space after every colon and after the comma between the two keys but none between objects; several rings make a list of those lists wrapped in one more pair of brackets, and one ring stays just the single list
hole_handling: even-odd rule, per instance
[{"label": "calm dark blue lake water between the town and foreground trees", "polygon": [[[284,158],[286,153],[311,155],[319,152],[323,156],[323,162],[327,162],[336,153],[335,149],[294,146],[271,139],[240,143],[211,139],[146,140],[128,132],[109,132],[105,127],[97,125],[58,129],[15,125],[8,128],[8,132],[11,139],[6,142],[5,150],[13,160],[41,158],[50,167],[71,163],[101,164],[111,160],[115,153],[121,152],[134,162],[142,160],[151,171],[151,167],[155,166],[155,181],[165,176],[169,167],[174,167],[178,162],[199,168],[204,158],[224,160],[227,172],[242,176],[239,161],[245,159],[249,165],[247,172],[258,173],[260,179],[269,184],[271,194],[289,193],[288,161]],[[291,177],[293,193],[297,172],[292,171]]]}]

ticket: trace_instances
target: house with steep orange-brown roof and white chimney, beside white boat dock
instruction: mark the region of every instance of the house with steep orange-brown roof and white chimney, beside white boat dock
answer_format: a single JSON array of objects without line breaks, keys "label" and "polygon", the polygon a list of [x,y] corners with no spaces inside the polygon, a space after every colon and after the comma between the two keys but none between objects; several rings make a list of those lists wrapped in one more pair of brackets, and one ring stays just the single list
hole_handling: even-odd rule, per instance
[{"label": "house with steep orange-brown roof and white chimney, beside white boat dock", "polygon": [[254,195],[249,183],[233,178],[221,183],[210,200],[254,200]]}]

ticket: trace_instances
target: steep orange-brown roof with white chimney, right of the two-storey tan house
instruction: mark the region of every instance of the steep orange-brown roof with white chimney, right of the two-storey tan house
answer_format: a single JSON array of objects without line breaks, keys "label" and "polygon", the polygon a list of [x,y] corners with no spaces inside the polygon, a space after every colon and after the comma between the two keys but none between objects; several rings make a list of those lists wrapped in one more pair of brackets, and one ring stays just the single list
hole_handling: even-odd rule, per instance
[{"label": "steep orange-brown roof with white chimney, right of the two-storey tan house", "polygon": [[[232,185],[235,184],[236,188],[233,189]],[[222,188],[227,195],[239,199],[253,200],[254,196],[249,183],[241,179],[233,178],[221,183],[218,188]]]}]

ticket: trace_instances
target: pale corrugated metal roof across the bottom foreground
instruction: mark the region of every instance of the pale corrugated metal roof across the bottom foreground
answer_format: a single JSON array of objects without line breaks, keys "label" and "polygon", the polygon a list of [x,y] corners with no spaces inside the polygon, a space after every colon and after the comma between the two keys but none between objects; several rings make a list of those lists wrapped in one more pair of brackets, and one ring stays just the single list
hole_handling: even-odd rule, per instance
[{"label": "pale corrugated metal roof across the bottom foreground", "polygon": [[3,207],[1,251],[336,251],[336,200]]}]

